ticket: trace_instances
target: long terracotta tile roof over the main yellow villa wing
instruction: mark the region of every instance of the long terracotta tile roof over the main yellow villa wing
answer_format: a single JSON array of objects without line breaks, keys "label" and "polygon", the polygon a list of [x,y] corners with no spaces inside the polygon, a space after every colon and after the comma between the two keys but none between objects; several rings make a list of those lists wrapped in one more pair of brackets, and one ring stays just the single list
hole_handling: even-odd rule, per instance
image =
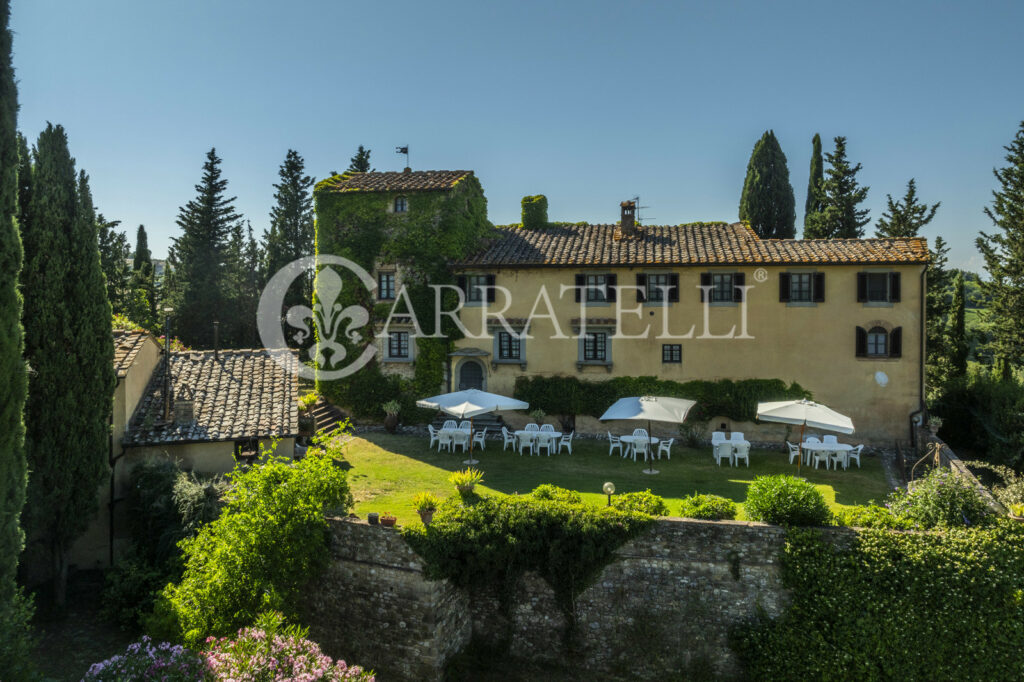
[{"label": "long terracotta tile roof over the main yellow villa wing", "polygon": [[742,223],[644,225],[624,237],[617,225],[555,225],[546,229],[496,227],[473,266],[611,265],[825,265],[927,263],[924,238],[762,240]]}]

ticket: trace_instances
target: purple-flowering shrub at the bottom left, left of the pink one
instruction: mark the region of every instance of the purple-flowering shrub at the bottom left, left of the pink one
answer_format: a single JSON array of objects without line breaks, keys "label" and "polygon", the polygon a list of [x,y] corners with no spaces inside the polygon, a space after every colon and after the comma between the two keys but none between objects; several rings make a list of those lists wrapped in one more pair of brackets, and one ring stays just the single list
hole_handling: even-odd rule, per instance
[{"label": "purple-flowering shrub at the bottom left, left of the pink one", "polygon": [[204,678],[203,658],[169,642],[154,644],[148,637],[130,644],[121,654],[93,664],[82,682],[135,682],[162,680],[196,682]]}]

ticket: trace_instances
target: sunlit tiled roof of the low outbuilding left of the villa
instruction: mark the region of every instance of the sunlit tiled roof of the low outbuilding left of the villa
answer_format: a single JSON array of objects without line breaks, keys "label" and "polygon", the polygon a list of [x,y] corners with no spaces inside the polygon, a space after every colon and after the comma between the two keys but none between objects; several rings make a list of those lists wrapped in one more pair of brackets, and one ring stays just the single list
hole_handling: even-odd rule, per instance
[{"label": "sunlit tiled roof of the low outbuilding left of the villa", "polygon": [[[282,358],[286,370],[274,357]],[[291,351],[212,350],[171,353],[172,395],[193,391],[195,419],[163,421],[164,364],[150,379],[124,437],[125,445],[234,440],[298,433],[298,363]],[[172,409],[173,412],[173,409]]]}]

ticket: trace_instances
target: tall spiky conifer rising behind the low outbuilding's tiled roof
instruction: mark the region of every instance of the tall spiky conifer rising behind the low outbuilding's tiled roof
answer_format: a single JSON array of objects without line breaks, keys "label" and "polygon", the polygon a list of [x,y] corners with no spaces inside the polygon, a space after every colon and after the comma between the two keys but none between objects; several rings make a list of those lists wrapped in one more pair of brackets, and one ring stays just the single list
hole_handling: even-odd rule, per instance
[{"label": "tall spiky conifer rising behind the low outbuilding's tiled roof", "polygon": [[226,189],[212,148],[196,198],[178,209],[181,236],[172,240],[168,254],[170,271],[164,278],[173,325],[181,341],[195,348],[213,347],[213,322],[225,314],[228,302],[228,243],[242,216],[234,211],[234,197],[224,196]]}]

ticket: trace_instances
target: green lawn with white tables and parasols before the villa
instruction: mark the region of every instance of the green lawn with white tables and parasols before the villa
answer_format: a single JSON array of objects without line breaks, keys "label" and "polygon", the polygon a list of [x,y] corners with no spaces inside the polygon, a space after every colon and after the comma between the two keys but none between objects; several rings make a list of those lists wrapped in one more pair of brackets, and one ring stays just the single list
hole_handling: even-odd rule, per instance
[{"label": "green lawn with white tables and parasols before the villa", "polygon": [[[541,483],[554,483],[580,491],[593,504],[606,504],[601,494],[604,481],[615,484],[616,493],[650,488],[664,497],[670,510],[679,511],[679,499],[692,493],[712,493],[742,503],[746,486],[755,476],[777,473],[796,474],[796,464],[790,465],[788,455],[778,451],[755,450],[751,467],[719,468],[711,456],[711,447],[689,450],[674,446],[672,460],[655,461],[657,475],[642,473],[645,465],[624,460],[617,454],[608,456],[606,441],[578,440],[574,452],[552,457],[520,457],[511,450],[502,452],[500,441],[488,441],[477,459],[476,468],[483,471],[483,488],[490,493],[511,495],[529,493]],[[343,446],[344,458],[351,467],[349,482],[355,497],[355,513],[389,511],[398,522],[419,523],[412,499],[417,493],[429,491],[438,497],[454,493],[447,482],[450,472],[464,469],[462,453],[438,454],[427,449],[427,438],[370,433],[352,438]],[[817,485],[833,508],[881,502],[888,494],[882,462],[876,457],[861,457],[863,467],[854,464],[847,471],[814,470],[803,467],[801,473]]]}]

